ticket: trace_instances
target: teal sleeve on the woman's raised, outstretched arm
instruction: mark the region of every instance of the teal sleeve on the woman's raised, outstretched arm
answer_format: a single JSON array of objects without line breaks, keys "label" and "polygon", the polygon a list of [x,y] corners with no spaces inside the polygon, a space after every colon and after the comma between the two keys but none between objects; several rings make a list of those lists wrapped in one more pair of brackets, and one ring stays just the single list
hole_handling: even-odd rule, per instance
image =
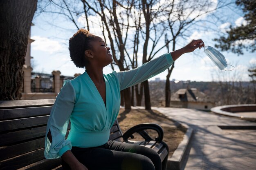
[{"label": "teal sleeve on the woman's raised, outstretched arm", "polygon": [[126,89],[127,87],[136,85],[143,81],[148,80],[149,78],[164,72],[168,67],[173,64],[173,58],[171,53],[164,54],[155,58],[154,60],[124,72],[113,72],[115,76],[119,79],[120,90]]}]

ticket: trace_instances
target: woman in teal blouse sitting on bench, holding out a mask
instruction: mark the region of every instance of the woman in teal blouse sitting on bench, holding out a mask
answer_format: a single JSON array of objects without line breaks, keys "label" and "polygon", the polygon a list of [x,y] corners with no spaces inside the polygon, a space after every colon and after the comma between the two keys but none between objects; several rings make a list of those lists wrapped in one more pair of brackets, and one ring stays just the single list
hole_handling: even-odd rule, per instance
[{"label": "woman in teal blouse sitting on bench, holding out a mask", "polygon": [[[61,157],[63,169],[161,170],[160,157],[154,150],[108,141],[120,108],[120,90],[163,72],[182,54],[202,46],[202,40],[192,40],[141,67],[105,75],[103,67],[112,62],[110,48],[99,36],[79,29],[69,40],[70,57],[77,67],[86,70],[65,81],[56,98],[47,123],[45,157]],[[65,139],[69,120],[71,130]]]}]

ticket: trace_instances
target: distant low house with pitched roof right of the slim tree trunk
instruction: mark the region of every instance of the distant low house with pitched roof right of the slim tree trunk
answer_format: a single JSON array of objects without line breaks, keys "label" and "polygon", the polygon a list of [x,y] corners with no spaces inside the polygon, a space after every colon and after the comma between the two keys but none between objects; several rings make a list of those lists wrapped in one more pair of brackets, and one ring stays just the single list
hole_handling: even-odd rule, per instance
[{"label": "distant low house with pitched roof right of the slim tree trunk", "polygon": [[195,88],[179,89],[171,95],[171,107],[209,111],[214,106],[213,98]]}]

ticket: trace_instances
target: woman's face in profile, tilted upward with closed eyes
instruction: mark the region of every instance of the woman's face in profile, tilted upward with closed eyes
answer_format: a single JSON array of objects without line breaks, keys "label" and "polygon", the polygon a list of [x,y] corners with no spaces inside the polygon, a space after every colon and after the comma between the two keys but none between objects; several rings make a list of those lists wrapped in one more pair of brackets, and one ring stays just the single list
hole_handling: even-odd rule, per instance
[{"label": "woman's face in profile, tilted upward with closed eyes", "polygon": [[93,62],[101,67],[105,67],[112,63],[112,55],[110,54],[110,47],[106,46],[104,40],[97,36],[94,41],[92,41],[92,52],[93,52]]}]

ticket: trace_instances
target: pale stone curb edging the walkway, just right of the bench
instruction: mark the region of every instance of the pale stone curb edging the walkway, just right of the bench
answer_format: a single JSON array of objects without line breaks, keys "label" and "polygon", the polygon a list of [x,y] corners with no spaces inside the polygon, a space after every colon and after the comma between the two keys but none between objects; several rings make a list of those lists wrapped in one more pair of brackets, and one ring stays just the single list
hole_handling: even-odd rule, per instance
[{"label": "pale stone curb edging the walkway, just right of the bench", "polygon": [[186,128],[186,134],[177,149],[174,151],[171,158],[167,161],[167,170],[181,170],[185,163],[186,153],[189,151],[189,141],[193,134],[193,129],[186,124],[179,123],[181,126]]}]

